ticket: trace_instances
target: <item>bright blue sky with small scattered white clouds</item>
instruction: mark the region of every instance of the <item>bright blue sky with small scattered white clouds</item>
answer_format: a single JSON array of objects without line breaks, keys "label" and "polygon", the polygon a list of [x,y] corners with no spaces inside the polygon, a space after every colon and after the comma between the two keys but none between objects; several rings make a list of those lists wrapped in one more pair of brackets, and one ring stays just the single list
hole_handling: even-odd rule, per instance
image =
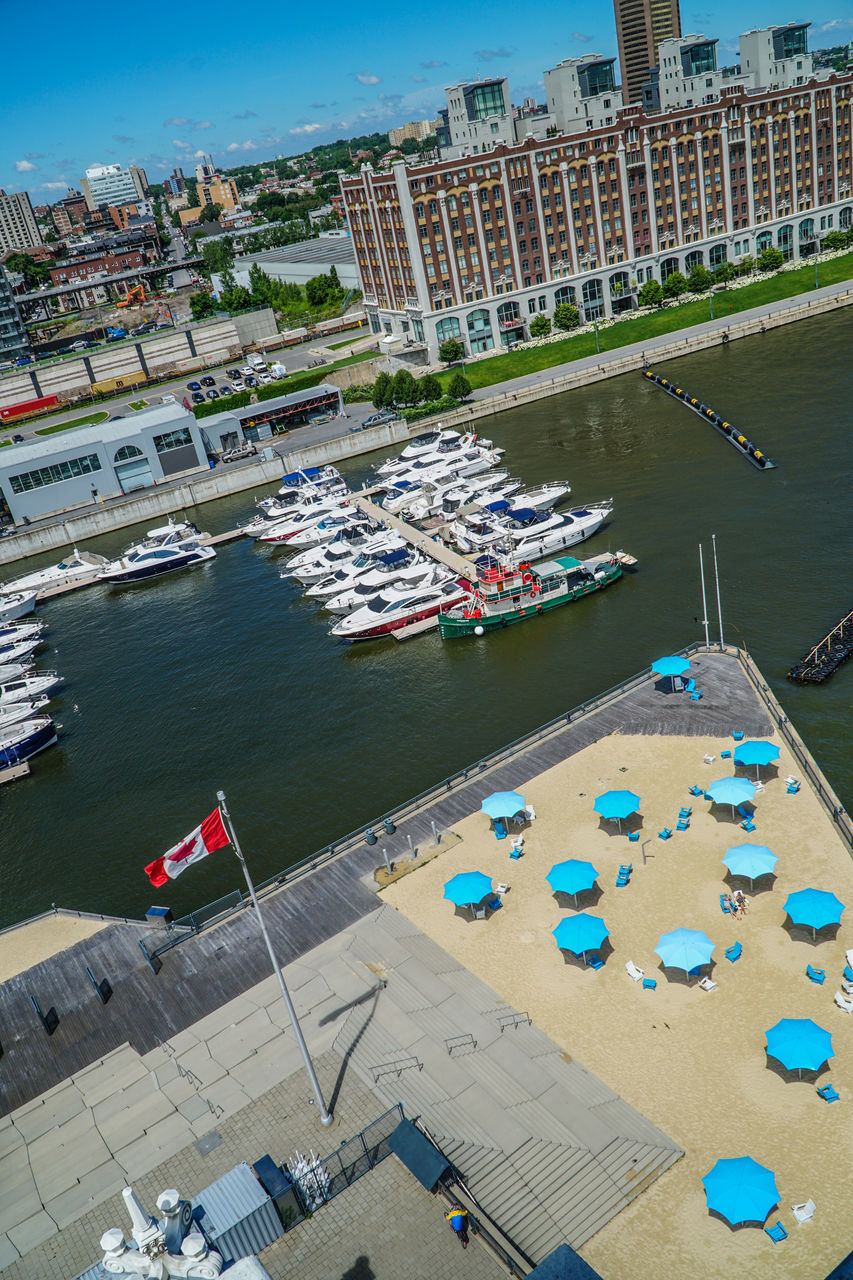
[{"label": "bright blue sky with small scattered white clouds", "polygon": [[[736,60],[739,32],[798,17],[780,0],[681,0],[683,31],[717,36],[720,65]],[[849,0],[812,0],[808,19],[812,49],[853,40]],[[161,182],[202,155],[229,168],[432,119],[443,87],[464,79],[507,76],[514,102],[542,100],[547,67],[616,54],[608,0],[41,0],[38,26],[45,45],[6,56],[0,81],[0,187],[33,205],[79,187],[95,164],[140,164]]]}]

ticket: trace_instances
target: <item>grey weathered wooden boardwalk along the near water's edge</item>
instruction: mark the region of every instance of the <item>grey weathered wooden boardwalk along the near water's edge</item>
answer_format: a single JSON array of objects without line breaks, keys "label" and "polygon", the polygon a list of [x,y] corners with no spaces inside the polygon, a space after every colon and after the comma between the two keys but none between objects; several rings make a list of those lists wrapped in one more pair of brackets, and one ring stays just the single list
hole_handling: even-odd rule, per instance
[{"label": "grey weathered wooden boardwalk along the near water's edge", "polygon": [[[761,737],[770,719],[738,660],[721,654],[692,659],[703,699],[692,703],[663,690],[669,681],[639,687],[598,710],[543,733],[502,763],[470,771],[470,778],[424,804],[380,847],[359,845],[269,896],[264,913],[282,963],[347,929],[377,906],[370,886],[382,864],[409,858],[409,837],[426,850],[432,824],[447,831],[475,813],[496,790],[524,788],[532,777],[608,733],[712,736],[734,727]],[[22,1106],[126,1041],[147,1052],[199,1018],[241,995],[269,973],[269,957],[250,910],[174,947],[155,977],[140,948],[145,925],[114,924],[51,960],[0,986],[0,1114]],[[113,997],[101,1005],[87,978],[108,978]],[[44,1012],[51,1006],[59,1027],[47,1037],[29,997]]]}]

